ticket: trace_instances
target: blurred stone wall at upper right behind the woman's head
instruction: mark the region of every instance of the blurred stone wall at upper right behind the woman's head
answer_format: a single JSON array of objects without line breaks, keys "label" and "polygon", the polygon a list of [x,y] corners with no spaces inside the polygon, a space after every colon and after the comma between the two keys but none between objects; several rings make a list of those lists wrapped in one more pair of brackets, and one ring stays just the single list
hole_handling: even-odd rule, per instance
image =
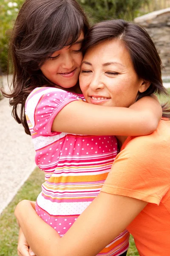
[{"label": "blurred stone wall at upper right behind the woman's head", "polygon": [[163,63],[163,76],[170,76],[170,8],[137,17],[135,23],[147,30]]}]

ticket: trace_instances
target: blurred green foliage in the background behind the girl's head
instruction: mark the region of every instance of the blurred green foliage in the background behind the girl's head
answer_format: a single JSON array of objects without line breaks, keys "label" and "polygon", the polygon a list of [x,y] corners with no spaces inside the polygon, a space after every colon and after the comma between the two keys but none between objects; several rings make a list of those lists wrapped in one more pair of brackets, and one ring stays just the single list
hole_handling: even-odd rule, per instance
[{"label": "blurred green foliage in the background behind the girl's head", "polygon": [[[133,20],[142,4],[149,0],[78,0],[88,12],[91,23],[109,18]],[[7,71],[8,39],[24,0],[0,0],[0,75]]]}]

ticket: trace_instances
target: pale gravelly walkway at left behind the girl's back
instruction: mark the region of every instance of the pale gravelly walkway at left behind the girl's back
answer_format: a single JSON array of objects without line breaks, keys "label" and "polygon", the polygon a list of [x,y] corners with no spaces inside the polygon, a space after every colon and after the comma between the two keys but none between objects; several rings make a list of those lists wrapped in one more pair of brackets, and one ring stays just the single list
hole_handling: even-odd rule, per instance
[{"label": "pale gravelly walkway at left behind the girl's back", "polygon": [[[8,88],[6,76],[3,86]],[[0,214],[35,168],[31,136],[11,116],[8,99],[0,100]]]}]

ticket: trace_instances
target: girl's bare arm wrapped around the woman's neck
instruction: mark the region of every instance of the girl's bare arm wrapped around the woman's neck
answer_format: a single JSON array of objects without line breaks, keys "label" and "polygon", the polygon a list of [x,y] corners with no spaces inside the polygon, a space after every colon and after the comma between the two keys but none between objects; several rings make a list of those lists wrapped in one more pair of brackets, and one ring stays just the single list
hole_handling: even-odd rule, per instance
[{"label": "girl's bare arm wrapped around the woman's neck", "polygon": [[55,117],[52,131],[87,135],[141,136],[156,130],[162,116],[156,97],[145,96],[130,108],[74,101]]}]

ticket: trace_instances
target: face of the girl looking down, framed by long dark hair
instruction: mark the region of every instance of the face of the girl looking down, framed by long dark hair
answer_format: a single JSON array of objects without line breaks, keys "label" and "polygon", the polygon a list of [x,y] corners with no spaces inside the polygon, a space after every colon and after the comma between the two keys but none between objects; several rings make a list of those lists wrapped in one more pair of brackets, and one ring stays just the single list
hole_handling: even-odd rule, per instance
[{"label": "face of the girl looking down, framed by long dark hair", "polygon": [[80,73],[83,40],[82,32],[74,44],[54,52],[40,68],[44,76],[63,88],[74,87]]}]

